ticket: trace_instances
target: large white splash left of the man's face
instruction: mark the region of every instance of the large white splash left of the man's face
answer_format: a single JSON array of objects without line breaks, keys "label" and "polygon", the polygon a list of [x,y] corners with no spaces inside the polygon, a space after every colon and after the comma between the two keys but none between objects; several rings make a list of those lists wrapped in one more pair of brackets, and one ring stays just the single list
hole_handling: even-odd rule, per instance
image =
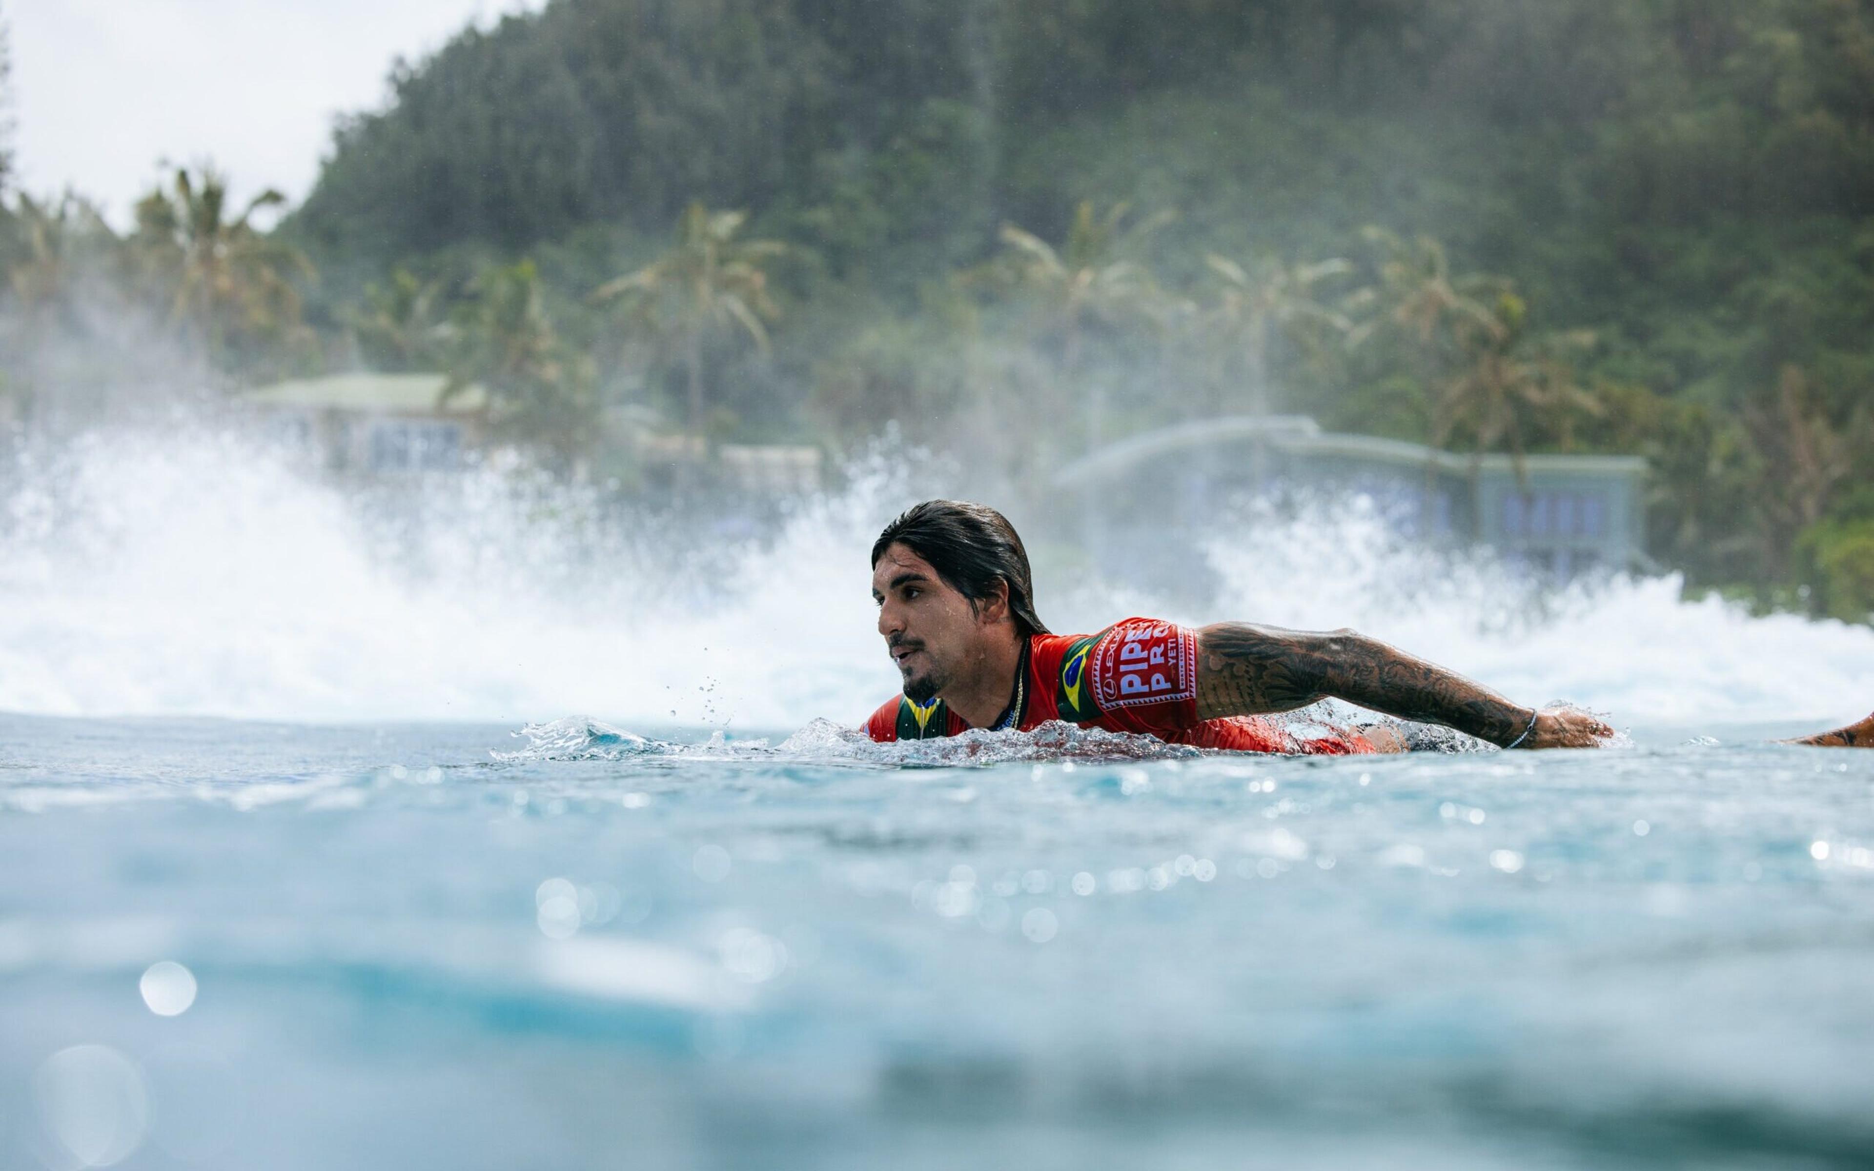
[{"label": "large white splash left of the man's face", "polygon": [[860,468],[766,538],[673,534],[513,470],[390,502],[232,435],[92,437],[0,495],[0,710],[858,721],[894,688],[868,530],[907,502]]}]

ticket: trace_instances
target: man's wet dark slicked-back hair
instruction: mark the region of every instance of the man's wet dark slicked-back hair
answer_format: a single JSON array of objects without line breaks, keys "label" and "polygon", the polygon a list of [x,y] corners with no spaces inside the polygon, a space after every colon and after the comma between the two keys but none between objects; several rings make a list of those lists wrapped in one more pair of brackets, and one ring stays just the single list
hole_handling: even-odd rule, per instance
[{"label": "man's wet dark slicked-back hair", "polygon": [[1008,615],[1021,637],[1044,635],[1034,613],[1034,581],[1029,551],[1021,547],[1008,517],[986,504],[926,500],[905,510],[871,543],[871,566],[892,545],[911,549],[937,570],[944,585],[969,598],[971,607],[995,596],[995,581],[1008,583]]}]

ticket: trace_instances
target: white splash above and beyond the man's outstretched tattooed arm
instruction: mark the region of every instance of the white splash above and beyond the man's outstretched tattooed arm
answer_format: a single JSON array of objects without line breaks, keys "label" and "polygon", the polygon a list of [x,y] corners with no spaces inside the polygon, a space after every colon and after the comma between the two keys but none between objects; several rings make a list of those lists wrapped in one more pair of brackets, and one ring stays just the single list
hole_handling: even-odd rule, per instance
[{"label": "white splash above and beyond the man's outstretched tattooed arm", "polygon": [[1216,538],[1216,613],[1297,630],[1353,626],[1522,703],[1561,695],[1615,725],[1844,723],[1867,712],[1874,630],[1797,615],[1752,616],[1687,600],[1677,575],[1539,588],[1479,553],[1400,541],[1366,500],[1235,525]]}]

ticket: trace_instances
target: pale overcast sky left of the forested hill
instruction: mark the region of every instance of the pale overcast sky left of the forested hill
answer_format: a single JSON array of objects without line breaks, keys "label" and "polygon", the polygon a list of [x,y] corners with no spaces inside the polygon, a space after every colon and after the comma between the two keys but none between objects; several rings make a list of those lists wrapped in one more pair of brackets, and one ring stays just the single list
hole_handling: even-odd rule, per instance
[{"label": "pale overcast sky left of the forested hill", "polygon": [[0,0],[21,185],[122,223],[159,159],[214,159],[238,195],[298,202],[332,116],[380,105],[397,54],[521,7],[540,0]]}]

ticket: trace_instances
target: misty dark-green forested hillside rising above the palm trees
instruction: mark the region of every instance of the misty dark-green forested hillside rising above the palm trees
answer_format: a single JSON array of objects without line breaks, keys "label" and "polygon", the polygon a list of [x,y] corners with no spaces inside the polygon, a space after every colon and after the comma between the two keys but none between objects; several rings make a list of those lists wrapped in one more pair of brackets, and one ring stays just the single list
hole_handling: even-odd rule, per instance
[{"label": "misty dark-green forested hillside rising above the palm trees", "polygon": [[1003,221],[1124,199],[1181,214],[1169,251],[1430,232],[1649,341],[1747,270],[1852,277],[1823,270],[1874,206],[1870,24],[1857,0],[557,0],[399,67],[296,229],[380,264],[660,234],[703,200],[909,296]]}]

